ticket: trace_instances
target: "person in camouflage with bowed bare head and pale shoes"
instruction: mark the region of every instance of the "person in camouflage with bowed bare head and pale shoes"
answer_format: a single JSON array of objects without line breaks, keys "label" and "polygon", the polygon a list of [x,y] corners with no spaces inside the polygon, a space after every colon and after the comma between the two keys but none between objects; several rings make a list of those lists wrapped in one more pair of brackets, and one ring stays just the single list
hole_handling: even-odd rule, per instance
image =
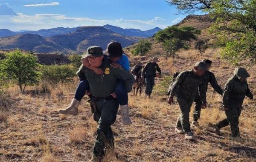
[{"label": "person in camouflage with bowed bare head and pale shoes", "polygon": [[[202,84],[202,76],[206,70],[207,64],[205,62],[197,62],[194,69],[180,72],[170,90],[168,103],[172,104],[173,97],[176,96],[180,107],[180,115],[177,119],[175,131],[181,134],[185,133],[185,139],[188,140],[195,139],[190,130],[189,112],[195,99],[195,95],[198,92],[198,88],[200,95],[205,95],[205,86]],[[201,97],[205,98],[205,96]]]}]

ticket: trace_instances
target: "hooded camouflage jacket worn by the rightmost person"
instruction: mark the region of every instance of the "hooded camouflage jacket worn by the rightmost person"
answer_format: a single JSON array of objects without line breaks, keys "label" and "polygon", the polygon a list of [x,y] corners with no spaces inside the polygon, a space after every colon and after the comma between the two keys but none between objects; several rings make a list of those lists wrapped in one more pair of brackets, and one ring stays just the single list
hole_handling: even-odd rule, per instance
[{"label": "hooded camouflage jacket worn by the rightmost person", "polygon": [[250,76],[246,70],[242,68],[236,68],[234,75],[229,78],[225,84],[222,104],[227,107],[241,107],[245,96],[253,98],[253,94],[250,92],[247,81],[241,82],[241,75]]}]

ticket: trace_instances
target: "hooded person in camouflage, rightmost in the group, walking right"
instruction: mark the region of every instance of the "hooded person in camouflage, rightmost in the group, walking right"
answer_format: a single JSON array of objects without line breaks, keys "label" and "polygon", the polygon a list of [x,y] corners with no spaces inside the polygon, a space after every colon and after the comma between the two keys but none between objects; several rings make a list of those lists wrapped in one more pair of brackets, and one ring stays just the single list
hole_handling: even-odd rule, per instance
[{"label": "hooded person in camouflage, rightmost in the group, walking right", "polygon": [[247,78],[250,75],[244,68],[236,68],[234,75],[229,78],[225,84],[222,105],[227,118],[215,123],[215,133],[220,135],[220,129],[230,125],[233,137],[240,137],[239,116],[241,114],[242,104],[245,96],[253,99],[253,94],[247,84]]}]

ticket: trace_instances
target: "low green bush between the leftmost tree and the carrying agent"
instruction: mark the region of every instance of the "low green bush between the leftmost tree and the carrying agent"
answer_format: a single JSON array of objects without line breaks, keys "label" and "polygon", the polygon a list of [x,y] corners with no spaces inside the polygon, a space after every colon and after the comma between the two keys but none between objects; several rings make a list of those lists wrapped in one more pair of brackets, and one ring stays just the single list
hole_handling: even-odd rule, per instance
[{"label": "low green bush between the leftmost tree and the carrying agent", "polygon": [[41,67],[42,78],[52,84],[72,81],[76,76],[76,69],[70,65],[44,65]]}]

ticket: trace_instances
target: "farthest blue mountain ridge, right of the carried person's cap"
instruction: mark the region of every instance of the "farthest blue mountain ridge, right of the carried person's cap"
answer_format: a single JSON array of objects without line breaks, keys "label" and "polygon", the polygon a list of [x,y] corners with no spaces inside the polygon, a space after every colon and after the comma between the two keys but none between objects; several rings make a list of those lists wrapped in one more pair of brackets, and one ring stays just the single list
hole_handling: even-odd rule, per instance
[{"label": "farthest blue mountain ridge, right of the carried person's cap", "polygon": [[140,29],[123,29],[118,26],[112,26],[108,24],[104,25],[103,27],[113,32],[116,32],[118,34],[134,36],[134,37],[144,37],[144,38],[151,37],[154,34],[156,34],[159,30],[162,30],[159,27],[155,27],[154,29],[145,30],[145,31],[142,31]]}]

